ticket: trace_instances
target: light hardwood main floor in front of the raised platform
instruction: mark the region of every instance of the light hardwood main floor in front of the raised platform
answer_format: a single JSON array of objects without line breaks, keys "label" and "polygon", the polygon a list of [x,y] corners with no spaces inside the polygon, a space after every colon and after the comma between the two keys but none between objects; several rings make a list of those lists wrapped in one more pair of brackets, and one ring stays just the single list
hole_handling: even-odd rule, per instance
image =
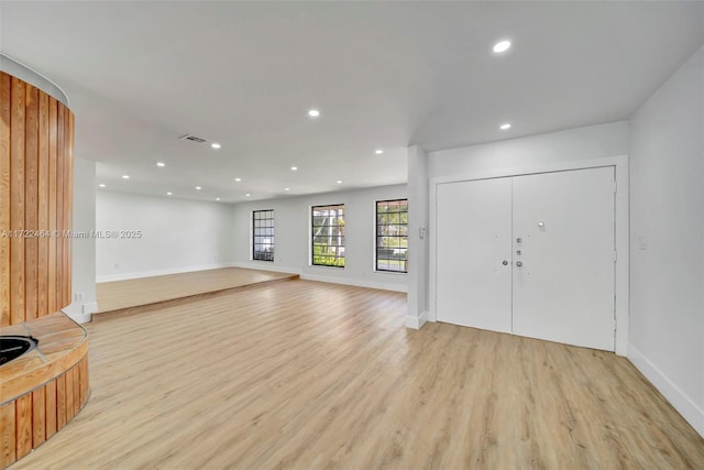
[{"label": "light hardwood main floor in front of the raised platform", "polygon": [[92,396],[15,469],[702,469],[624,358],[287,281],[88,327]]}]

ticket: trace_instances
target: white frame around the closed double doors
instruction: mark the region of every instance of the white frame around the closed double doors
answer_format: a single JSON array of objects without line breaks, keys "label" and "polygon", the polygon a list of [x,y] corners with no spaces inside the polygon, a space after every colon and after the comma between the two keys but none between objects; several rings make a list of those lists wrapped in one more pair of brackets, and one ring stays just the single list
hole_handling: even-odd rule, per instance
[{"label": "white frame around the closed double doors", "polygon": [[616,331],[614,336],[615,352],[618,356],[628,353],[628,311],[629,311],[629,226],[628,226],[628,155],[617,155],[604,159],[536,163],[522,166],[484,170],[444,177],[430,178],[429,184],[429,311],[428,321],[437,321],[437,228],[438,228],[438,185],[447,183],[470,182],[476,179],[492,179],[509,176],[522,176],[539,173],[554,173],[572,170],[588,170],[612,166],[616,177],[616,197],[614,215],[614,236],[616,247],[615,263],[615,318]]}]

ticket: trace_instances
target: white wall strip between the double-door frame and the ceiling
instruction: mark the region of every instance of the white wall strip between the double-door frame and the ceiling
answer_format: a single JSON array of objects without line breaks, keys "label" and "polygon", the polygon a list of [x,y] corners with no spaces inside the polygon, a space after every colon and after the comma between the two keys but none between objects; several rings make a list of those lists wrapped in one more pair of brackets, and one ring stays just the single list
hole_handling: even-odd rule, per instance
[{"label": "white wall strip between the double-door frame and the ceiling", "polygon": [[428,177],[461,176],[528,165],[628,154],[628,122],[588,125],[429,154]]}]

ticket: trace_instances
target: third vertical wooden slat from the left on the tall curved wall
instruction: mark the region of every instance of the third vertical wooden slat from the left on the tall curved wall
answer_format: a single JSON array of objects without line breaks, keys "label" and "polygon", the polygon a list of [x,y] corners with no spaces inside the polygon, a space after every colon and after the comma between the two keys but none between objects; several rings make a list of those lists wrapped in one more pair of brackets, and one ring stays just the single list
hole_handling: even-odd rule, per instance
[{"label": "third vertical wooden slat from the left on the tall curved wall", "polygon": [[[24,152],[24,226],[38,230],[38,90],[26,86],[25,96],[25,152]],[[30,236],[24,240],[24,296],[25,319],[37,317],[38,240]]]}]

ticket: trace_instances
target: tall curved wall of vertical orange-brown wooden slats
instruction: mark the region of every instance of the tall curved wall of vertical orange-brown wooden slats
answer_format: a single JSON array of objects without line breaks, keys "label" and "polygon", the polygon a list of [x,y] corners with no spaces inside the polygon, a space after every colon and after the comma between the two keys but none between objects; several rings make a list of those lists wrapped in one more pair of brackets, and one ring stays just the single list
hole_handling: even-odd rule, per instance
[{"label": "tall curved wall of vertical orange-brown wooden slats", "polygon": [[0,72],[0,327],[70,304],[74,114]]}]

